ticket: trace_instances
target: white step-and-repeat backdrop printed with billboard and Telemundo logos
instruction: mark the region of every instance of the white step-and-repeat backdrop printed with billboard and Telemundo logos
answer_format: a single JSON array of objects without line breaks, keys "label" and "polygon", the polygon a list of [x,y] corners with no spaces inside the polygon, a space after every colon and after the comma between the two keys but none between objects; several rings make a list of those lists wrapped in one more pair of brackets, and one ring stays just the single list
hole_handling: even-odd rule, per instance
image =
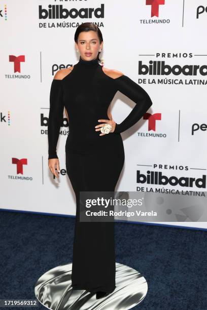
[{"label": "white step-and-repeat backdrop printed with billboard and Telemundo logos", "polygon": [[[105,67],[140,84],[153,102],[121,134],[125,164],[116,190],[168,193],[172,205],[176,193],[187,195],[192,203],[181,204],[177,221],[164,224],[207,228],[200,221],[205,210],[198,207],[198,214],[193,204],[206,194],[206,6],[204,0],[1,1],[0,207],[76,213],[65,168],[65,114],[57,144],[60,178],[48,168],[49,93],[57,70],[78,62],[74,34],[89,21],[102,32]],[[113,119],[120,123],[134,104],[117,92]]]}]

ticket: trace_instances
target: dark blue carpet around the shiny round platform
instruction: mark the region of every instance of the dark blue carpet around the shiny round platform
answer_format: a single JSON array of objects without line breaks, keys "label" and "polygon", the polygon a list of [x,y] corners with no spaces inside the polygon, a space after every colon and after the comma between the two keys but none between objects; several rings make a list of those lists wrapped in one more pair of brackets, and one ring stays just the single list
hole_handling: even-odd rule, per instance
[{"label": "dark blue carpet around the shiny round platform", "polygon": [[[0,299],[36,299],[38,278],[72,261],[75,218],[0,215]],[[207,309],[207,231],[121,222],[115,231],[116,261],[139,270],[148,282],[147,296],[133,309]]]}]

